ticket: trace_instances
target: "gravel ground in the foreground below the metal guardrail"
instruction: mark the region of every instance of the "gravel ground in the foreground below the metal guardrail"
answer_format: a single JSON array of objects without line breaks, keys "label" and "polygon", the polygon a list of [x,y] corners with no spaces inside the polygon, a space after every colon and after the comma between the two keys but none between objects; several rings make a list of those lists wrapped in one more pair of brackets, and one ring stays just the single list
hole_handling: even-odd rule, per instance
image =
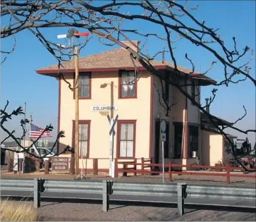
[{"label": "gravel ground in the foreground below the metal guardrail", "polygon": [[[18,204],[18,202],[17,202]],[[101,204],[42,202],[39,221],[256,221],[255,213],[185,209],[156,206],[111,205],[104,213]]]}]

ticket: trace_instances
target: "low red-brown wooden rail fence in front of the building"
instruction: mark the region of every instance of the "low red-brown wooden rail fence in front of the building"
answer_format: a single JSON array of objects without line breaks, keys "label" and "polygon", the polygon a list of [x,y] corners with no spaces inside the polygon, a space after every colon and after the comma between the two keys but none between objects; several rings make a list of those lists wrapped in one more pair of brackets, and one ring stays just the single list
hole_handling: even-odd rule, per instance
[{"label": "low red-brown wooden rail fence in front of the building", "polygon": [[[152,164],[152,159],[114,159],[115,160],[115,178],[118,177],[119,173],[126,175],[127,173],[133,173],[133,175],[145,175],[145,174],[161,174],[161,171],[156,171],[154,166],[159,168],[162,167],[162,164]],[[85,166],[86,168],[83,172],[93,173],[97,175],[99,172],[107,173],[109,169],[100,168],[100,166],[108,166],[109,159],[99,158],[99,159],[87,159],[87,162],[90,164],[90,167]],[[100,164],[98,163],[100,162]],[[104,164],[102,164],[104,162]],[[11,161],[8,161],[8,165],[11,166]],[[121,167],[122,166],[122,167]],[[200,166],[196,164],[173,164],[171,161],[169,164],[164,164],[164,168],[168,168],[168,171],[165,171],[164,174],[168,175],[169,180],[172,180],[173,175],[210,175],[213,177],[226,177],[226,183],[229,184],[231,182],[231,178],[256,178],[255,175],[250,174],[240,174],[240,173],[231,173],[232,171],[243,171],[243,168],[240,167],[231,167],[229,164],[226,166]],[[173,171],[173,168],[186,168],[185,171]],[[195,171],[188,171],[188,168],[192,168]],[[197,171],[200,168],[212,169],[215,171],[224,171],[224,172],[206,172],[206,171]]]}]

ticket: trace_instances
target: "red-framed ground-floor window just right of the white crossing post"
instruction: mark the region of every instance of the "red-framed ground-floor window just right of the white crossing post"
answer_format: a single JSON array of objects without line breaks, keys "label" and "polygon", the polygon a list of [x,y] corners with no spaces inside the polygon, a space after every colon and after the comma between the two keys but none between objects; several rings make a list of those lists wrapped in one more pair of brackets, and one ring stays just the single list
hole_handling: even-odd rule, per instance
[{"label": "red-framed ground-floor window just right of the white crossing post", "polygon": [[135,121],[118,121],[118,158],[133,158],[135,153]]}]

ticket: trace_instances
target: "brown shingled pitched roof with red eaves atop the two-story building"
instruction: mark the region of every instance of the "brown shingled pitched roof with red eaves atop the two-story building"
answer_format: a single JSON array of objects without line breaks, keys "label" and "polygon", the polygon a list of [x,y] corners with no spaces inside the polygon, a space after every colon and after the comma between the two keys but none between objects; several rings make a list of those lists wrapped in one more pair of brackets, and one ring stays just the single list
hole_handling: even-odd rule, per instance
[{"label": "brown shingled pitched roof with red eaves atop the two-story building", "polygon": [[[140,64],[140,62],[136,59],[130,58],[130,53],[126,49],[118,48],[111,49],[109,51],[103,51],[99,54],[92,54],[89,56],[84,56],[79,58],[79,70],[80,72],[86,71],[112,71],[112,70],[134,70],[134,64],[138,68],[138,70],[145,70],[145,68]],[[152,66],[157,70],[173,70],[174,66],[170,62],[162,62],[162,61],[150,61]],[[74,60],[65,61],[61,63],[60,66],[61,73],[73,73],[75,72],[75,62]],[[188,68],[183,68],[178,66],[178,70],[182,73],[188,74],[191,72]],[[47,66],[44,68],[39,68],[36,70],[38,74],[42,75],[50,75],[57,76],[59,73],[58,64]],[[200,81],[205,82],[206,85],[215,84],[216,82],[211,78],[208,78],[205,75],[201,75],[200,73],[190,74],[192,78],[197,78]]]}]

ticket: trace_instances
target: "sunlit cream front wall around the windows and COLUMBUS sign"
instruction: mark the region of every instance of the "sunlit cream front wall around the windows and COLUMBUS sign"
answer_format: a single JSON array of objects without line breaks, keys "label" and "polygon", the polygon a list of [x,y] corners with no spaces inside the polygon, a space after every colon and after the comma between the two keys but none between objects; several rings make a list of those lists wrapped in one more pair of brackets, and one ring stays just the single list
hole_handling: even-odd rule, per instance
[{"label": "sunlit cream front wall around the windows and COLUMBUS sign", "polygon": [[[114,82],[114,117],[119,120],[136,120],[135,157],[149,157],[150,147],[150,75],[140,72],[137,85],[137,99],[118,99],[118,72],[92,73],[92,99],[79,100],[79,119],[90,120],[90,156],[89,158],[109,158],[109,122],[106,116],[98,111],[92,111],[91,106],[110,105],[110,85]],[[66,75],[68,82],[73,85],[73,74]],[[110,113],[109,113],[110,114]],[[73,92],[66,82],[61,80],[61,114],[60,130],[65,131],[66,137],[60,142],[72,146],[72,121],[75,120],[75,100]],[[116,130],[116,127],[115,127]],[[116,157],[116,136],[114,137],[114,158]],[[99,160],[99,168],[108,168],[108,160]],[[83,164],[80,161],[80,168]],[[85,160],[84,160],[85,166]],[[92,160],[87,161],[87,168],[92,168]]]}]

